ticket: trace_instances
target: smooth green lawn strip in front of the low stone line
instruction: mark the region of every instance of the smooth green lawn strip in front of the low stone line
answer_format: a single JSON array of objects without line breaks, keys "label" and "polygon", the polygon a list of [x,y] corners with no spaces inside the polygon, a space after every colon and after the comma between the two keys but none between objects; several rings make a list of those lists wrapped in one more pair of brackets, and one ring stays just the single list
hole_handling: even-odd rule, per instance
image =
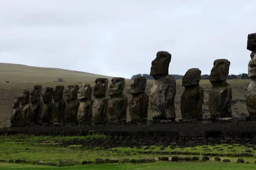
[{"label": "smooth green lawn strip in front of the low stone line", "polygon": [[99,170],[99,169],[147,169],[147,170],[250,170],[255,169],[255,164],[237,164],[237,163],[172,163],[172,162],[157,162],[157,163],[146,163],[146,164],[101,164],[101,165],[83,165],[83,166],[72,166],[72,167],[48,167],[48,166],[35,166],[29,164],[8,164],[8,163],[0,163],[0,169],[67,169],[67,170]]}]

